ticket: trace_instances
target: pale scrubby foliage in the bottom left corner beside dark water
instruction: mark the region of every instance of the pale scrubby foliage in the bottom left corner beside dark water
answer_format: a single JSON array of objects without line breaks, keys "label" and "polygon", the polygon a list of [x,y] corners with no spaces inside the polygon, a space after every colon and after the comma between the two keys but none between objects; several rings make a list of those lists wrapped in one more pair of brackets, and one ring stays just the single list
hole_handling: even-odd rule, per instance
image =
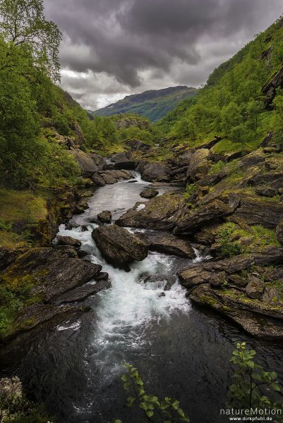
[{"label": "pale scrubby foliage in the bottom left corner beside dark water", "polygon": [[0,379],[0,420],[1,423],[52,423],[41,405],[26,398],[18,376]]}]

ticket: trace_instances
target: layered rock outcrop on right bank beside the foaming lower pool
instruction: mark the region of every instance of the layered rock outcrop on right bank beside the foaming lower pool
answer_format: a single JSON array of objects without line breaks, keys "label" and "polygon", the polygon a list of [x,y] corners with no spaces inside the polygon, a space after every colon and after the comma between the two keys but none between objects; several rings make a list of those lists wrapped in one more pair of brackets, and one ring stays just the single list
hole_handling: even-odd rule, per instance
[{"label": "layered rock outcrop on right bank beside the foaming lower pool", "polygon": [[179,278],[194,302],[222,312],[255,336],[283,338],[283,308],[275,302],[279,294],[268,286],[280,277],[270,274],[269,266],[282,263],[281,248],[264,247],[250,255],[195,264],[181,270]]}]

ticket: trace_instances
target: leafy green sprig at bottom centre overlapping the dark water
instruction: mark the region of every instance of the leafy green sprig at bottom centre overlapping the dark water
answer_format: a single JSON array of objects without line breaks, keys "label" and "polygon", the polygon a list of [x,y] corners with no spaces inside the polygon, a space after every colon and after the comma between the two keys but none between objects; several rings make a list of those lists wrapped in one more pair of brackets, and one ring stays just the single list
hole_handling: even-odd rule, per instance
[{"label": "leafy green sprig at bottom centre overlapping the dark water", "polygon": [[[138,410],[142,412],[145,422],[162,422],[177,423],[190,422],[188,415],[179,407],[179,401],[174,398],[165,397],[160,401],[157,396],[148,395],[145,392],[143,380],[138,374],[138,369],[131,364],[124,364],[127,373],[121,379],[124,381],[125,391],[131,392],[128,396],[126,405],[133,407],[138,406]],[[114,419],[114,423],[123,423],[119,419]]]}]

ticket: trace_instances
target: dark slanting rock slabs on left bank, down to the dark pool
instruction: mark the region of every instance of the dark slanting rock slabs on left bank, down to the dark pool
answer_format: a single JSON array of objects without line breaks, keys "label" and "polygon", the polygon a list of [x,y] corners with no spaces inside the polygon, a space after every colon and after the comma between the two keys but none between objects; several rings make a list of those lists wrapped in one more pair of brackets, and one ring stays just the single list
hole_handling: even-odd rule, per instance
[{"label": "dark slanting rock slabs on left bank, down to the dark pool", "polygon": [[[1,273],[1,283],[8,287],[27,286],[31,290],[32,301],[20,309],[11,330],[2,337],[2,341],[15,338],[47,321],[59,323],[71,314],[88,311],[89,307],[61,306],[65,301],[59,298],[64,298],[65,293],[68,302],[77,302],[79,293],[81,299],[86,298],[82,287],[99,278],[101,269],[99,264],[79,259],[76,249],[70,246],[32,248],[20,255]],[[99,287],[105,288],[107,285],[103,287],[100,283],[96,290]]]}]

